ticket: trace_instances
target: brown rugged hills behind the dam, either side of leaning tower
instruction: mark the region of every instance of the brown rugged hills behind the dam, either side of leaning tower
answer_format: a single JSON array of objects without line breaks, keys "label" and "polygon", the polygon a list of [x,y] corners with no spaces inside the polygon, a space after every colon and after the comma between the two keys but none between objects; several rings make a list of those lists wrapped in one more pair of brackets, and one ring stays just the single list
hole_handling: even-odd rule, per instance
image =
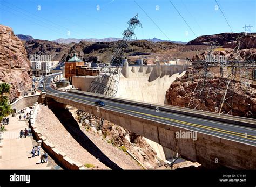
[{"label": "brown rugged hills behind the dam, either side of leaning tower", "polygon": [[[47,40],[30,40],[25,42],[26,51],[28,52],[28,58],[31,55],[51,55],[52,60],[58,60],[65,62],[73,56],[74,53],[86,62],[96,61],[106,63],[111,60],[112,54],[116,49],[118,42],[87,42],[80,41],[78,44],[58,44]],[[167,51],[174,50],[180,44],[173,44],[171,42],[150,42],[147,40],[136,40],[129,42],[128,49],[125,51],[125,55],[133,59],[134,56],[153,58],[156,56],[165,59],[170,59],[170,54]],[[60,66],[62,63],[59,64]]]}]

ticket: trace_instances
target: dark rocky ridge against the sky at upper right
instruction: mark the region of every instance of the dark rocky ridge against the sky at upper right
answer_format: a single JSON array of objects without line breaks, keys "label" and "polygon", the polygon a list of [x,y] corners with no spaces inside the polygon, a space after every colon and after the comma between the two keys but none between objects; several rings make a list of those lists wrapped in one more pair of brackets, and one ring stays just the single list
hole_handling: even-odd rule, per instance
[{"label": "dark rocky ridge against the sky at upper right", "polygon": [[227,42],[235,42],[244,36],[244,33],[221,33],[213,35],[202,35],[191,40],[186,45],[211,45],[223,46]]}]

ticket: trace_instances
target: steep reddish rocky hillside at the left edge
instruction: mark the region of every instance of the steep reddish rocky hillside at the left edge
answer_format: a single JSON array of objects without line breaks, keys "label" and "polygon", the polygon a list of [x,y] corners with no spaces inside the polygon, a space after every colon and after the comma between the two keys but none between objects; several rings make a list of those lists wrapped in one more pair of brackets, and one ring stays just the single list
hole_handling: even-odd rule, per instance
[{"label": "steep reddish rocky hillside at the left edge", "polygon": [[22,41],[8,26],[0,25],[0,81],[11,84],[10,100],[17,91],[31,88],[30,62]]}]

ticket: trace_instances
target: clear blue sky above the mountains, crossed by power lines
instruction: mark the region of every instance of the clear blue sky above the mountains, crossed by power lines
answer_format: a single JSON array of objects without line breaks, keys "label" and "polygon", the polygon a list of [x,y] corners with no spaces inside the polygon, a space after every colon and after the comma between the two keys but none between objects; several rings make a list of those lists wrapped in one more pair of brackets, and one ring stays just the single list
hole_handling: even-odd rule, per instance
[{"label": "clear blue sky above the mountains, crossed by power lines", "polygon": [[[137,39],[190,41],[197,35],[231,32],[215,0],[0,0],[0,24],[35,39],[122,38],[126,22],[139,14],[143,28]],[[255,0],[217,0],[233,32],[251,24],[255,32]],[[159,29],[159,28],[160,29]]]}]

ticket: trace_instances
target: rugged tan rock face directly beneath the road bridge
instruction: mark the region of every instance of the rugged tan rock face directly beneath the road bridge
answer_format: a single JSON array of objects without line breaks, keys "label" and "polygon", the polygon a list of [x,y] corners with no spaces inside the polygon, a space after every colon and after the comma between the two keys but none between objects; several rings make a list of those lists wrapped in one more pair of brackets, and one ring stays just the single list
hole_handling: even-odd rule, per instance
[{"label": "rugged tan rock face directly beneath the road bridge", "polygon": [[146,168],[164,166],[164,162],[158,159],[157,153],[142,136],[107,120],[100,125],[100,118],[89,113],[78,111],[77,114],[76,118],[83,126],[95,128],[95,131],[100,132],[100,137],[113,146],[129,150]]}]

